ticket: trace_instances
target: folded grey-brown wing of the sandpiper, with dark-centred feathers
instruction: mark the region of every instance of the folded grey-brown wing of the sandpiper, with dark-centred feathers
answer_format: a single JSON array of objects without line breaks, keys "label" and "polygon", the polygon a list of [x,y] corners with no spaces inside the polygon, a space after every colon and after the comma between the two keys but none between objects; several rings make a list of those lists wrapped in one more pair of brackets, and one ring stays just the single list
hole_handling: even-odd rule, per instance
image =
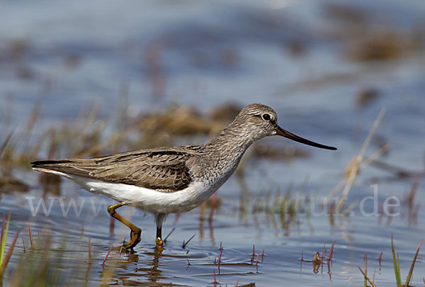
[{"label": "folded grey-brown wing of the sandpiper, with dark-centred feathers", "polygon": [[186,162],[196,154],[178,148],[123,152],[93,159],[32,162],[38,171],[60,171],[101,181],[160,191],[179,191],[191,183]]}]

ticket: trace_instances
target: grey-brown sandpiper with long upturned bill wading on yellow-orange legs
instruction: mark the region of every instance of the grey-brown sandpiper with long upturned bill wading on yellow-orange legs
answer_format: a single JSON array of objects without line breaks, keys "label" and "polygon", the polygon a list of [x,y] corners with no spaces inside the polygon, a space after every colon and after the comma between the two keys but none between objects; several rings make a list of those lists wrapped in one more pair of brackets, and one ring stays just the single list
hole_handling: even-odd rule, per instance
[{"label": "grey-brown sandpiper with long upturned bill wading on yellow-orange legs", "polygon": [[130,228],[130,241],[124,244],[127,249],[140,242],[142,230],[118,215],[116,209],[131,204],[153,213],[157,250],[162,251],[166,215],[192,210],[206,201],[233,174],[246,149],[269,135],[336,150],[283,130],[272,108],[252,103],[206,145],[135,150],[93,159],[45,160],[32,162],[31,166],[67,177],[88,191],[118,201],[108,207],[108,213]]}]

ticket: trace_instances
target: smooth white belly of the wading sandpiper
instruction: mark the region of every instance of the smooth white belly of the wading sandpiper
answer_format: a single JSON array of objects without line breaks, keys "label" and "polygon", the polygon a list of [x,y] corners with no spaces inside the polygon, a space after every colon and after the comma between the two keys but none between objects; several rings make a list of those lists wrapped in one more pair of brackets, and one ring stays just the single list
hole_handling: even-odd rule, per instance
[{"label": "smooth white belly of the wading sandpiper", "polygon": [[181,191],[162,192],[128,184],[113,184],[94,179],[74,179],[86,190],[100,193],[115,201],[129,203],[149,213],[182,213],[206,201],[217,188],[193,182]]}]

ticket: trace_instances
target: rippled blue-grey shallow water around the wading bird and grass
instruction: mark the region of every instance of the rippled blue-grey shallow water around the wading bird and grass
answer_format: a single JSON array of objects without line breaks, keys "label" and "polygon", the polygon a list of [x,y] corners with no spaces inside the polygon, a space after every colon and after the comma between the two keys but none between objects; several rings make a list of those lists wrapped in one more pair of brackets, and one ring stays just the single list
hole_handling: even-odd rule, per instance
[{"label": "rippled blue-grey shallow water around the wading bird and grass", "polygon": [[[337,3],[152,1],[143,5],[126,1],[123,5],[92,1],[89,6],[79,6],[66,1],[4,1],[0,7],[0,99],[5,103],[0,108],[1,139],[26,124],[35,103],[40,103],[40,119],[34,136],[64,120],[73,122],[81,108],[93,102],[99,105],[98,118],[111,118],[124,83],[129,86],[131,103],[127,112],[133,116],[170,103],[191,104],[207,113],[225,102],[239,106],[261,102],[277,111],[284,128],[339,148],[330,152],[279,138],[262,140],[288,152],[300,148],[309,156],[290,161],[246,157],[244,175],[232,176],[218,191],[220,205],[210,222],[208,207],[204,220],[200,208],[167,218],[164,235],[173,227],[176,230],[161,255],[153,252],[152,215],[120,209],[142,228],[142,241],[135,252],[120,255],[118,246],[128,237],[128,229],[118,222],[110,228],[106,206],[113,201],[66,180],[60,193],[46,192],[38,183],[38,174],[16,169],[13,175],[30,189],[25,193],[2,191],[0,215],[7,216],[11,210],[10,234],[21,228],[26,254],[18,240],[4,284],[13,281],[22,258],[42,261],[37,254],[28,254],[28,219],[35,242],[40,232],[40,244],[52,250],[52,260],[57,259],[52,265],[59,274],[57,285],[97,286],[105,281],[112,285],[212,286],[215,272],[216,284],[221,286],[234,286],[237,281],[239,286],[282,282],[359,286],[363,276],[358,266],[363,269],[367,253],[368,274],[375,270],[377,286],[395,286],[391,235],[404,281],[425,231],[421,225],[425,199],[425,135],[421,132],[425,125],[425,31],[421,19],[425,6],[421,1]],[[361,21],[361,26],[350,19]],[[352,55],[362,40],[360,35],[381,35],[387,30],[402,35],[396,43],[407,38],[404,47],[412,47],[397,52],[397,47],[391,46],[394,55],[381,60],[358,60],[361,52]],[[23,48],[16,47],[19,41]],[[361,91],[372,89],[378,96],[372,96],[365,106],[357,103]],[[319,200],[344,179],[346,164],[361,149],[382,108],[385,116],[366,157],[390,143],[390,151],[379,162],[395,170],[376,164],[366,167],[346,199],[346,206],[354,204],[351,213],[332,217],[328,211],[331,203],[323,210]],[[111,128],[113,123],[106,125]],[[185,140],[181,139],[182,144]],[[43,147],[40,159],[47,153]],[[409,172],[397,176],[400,170]],[[405,198],[414,174],[419,174],[419,186],[412,207]],[[290,198],[300,203],[292,215],[278,210],[290,186]],[[385,215],[382,209],[390,196],[395,198],[387,203],[399,200],[393,209],[385,206],[387,213],[395,216]],[[48,216],[41,207],[37,212],[31,210],[40,198],[47,208],[52,203]],[[77,211],[70,208],[64,215],[73,201]],[[314,204],[309,206],[310,202]],[[193,234],[196,236],[183,249],[183,240]],[[8,237],[8,245],[12,239]],[[329,267],[324,264],[315,273],[311,262],[301,263],[302,257],[311,260],[315,252],[322,254],[324,244],[329,251],[333,241]],[[220,244],[219,267],[215,261]],[[251,264],[253,244],[256,255]],[[114,249],[102,265],[111,245]],[[411,285],[422,284],[422,254],[419,252]],[[37,267],[28,265],[28,269]]]}]

